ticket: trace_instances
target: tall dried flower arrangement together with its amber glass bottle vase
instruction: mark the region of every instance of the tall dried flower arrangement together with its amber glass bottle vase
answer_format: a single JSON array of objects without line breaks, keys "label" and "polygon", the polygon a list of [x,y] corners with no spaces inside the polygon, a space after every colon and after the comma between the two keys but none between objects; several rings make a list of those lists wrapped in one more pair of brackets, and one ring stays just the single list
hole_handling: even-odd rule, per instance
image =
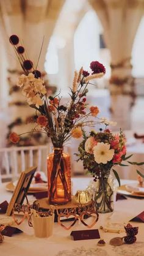
[{"label": "tall dried flower arrangement together with its amber glass bottle vase", "polygon": [[[45,84],[41,73],[34,67],[32,60],[25,54],[23,46],[18,46],[17,35],[10,37],[16,55],[23,68],[24,74],[18,79],[23,95],[31,108],[35,109],[35,127],[28,133],[45,133],[51,138],[54,153],[48,156],[48,187],[49,203],[63,204],[71,200],[70,156],[63,153],[63,145],[71,137],[80,138],[84,126],[94,126],[96,123],[105,123],[97,117],[99,109],[87,103],[88,85],[90,80],[101,78],[106,69],[103,64],[93,61],[90,64],[91,74],[81,68],[74,72],[73,86],[70,88],[70,100],[62,104],[60,93],[56,96],[46,95]],[[40,57],[40,56],[39,56]],[[39,59],[39,58],[38,58]],[[90,117],[90,119],[89,119]],[[23,134],[10,134],[10,141],[17,143]]]}]

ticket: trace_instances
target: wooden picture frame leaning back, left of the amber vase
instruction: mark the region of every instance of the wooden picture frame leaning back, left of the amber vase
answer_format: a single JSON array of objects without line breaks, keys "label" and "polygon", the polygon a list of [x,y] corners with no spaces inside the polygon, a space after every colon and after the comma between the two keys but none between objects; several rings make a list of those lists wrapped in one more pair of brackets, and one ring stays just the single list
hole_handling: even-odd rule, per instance
[{"label": "wooden picture frame leaning back, left of the amber vase", "polygon": [[13,192],[12,198],[10,199],[9,206],[7,207],[7,216],[12,214],[15,203],[20,205],[23,204],[29,186],[31,185],[32,178],[34,177],[35,170],[37,170],[37,166],[29,167],[27,170],[24,170],[24,172],[21,172],[20,178],[15,187],[15,191]]}]

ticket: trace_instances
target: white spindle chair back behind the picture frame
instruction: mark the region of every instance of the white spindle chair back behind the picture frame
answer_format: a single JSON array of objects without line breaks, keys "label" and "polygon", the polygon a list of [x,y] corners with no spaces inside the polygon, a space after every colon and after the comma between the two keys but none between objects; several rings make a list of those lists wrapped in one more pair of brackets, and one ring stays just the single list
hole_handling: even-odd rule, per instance
[{"label": "white spindle chair back behind the picture frame", "polygon": [[48,153],[49,144],[0,148],[0,182],[19,177],[21,171],[31,166],[37,166],[37,171],[46,172]]}]

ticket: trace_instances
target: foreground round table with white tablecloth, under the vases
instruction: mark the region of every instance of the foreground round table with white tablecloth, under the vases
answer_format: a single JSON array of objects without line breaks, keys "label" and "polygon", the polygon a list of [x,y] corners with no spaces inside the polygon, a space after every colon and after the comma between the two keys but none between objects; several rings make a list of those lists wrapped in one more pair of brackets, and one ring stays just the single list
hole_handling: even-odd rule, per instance
[{"label": "foreground round table with white tablecloth, under the vases", "polygon": [[[73,194],[77,189],[85,189],[92,178],[81,177],[73,178]],[[121,184],[132,183],[134,181],[121,180]],[[5,190],[5,183],[0,185],[0,203],[4,200],[10,201],[11,192]],[[29,202],[35,200],[35,197],[28,196]],[[129,220],[137,216],[144,210],[144,197],[134,199],[129,197],[127,200],[118,200],[115,202],[113,213],[99,214],[99,220],[92,229],[99,229],[101,225],[108,220],[111,222],[128,223]],[[3,217],[1,214],[0,217]],[[4,236],[4,243],[0,244],[1,256],[144,256],[144,225],[140,222],[131,222],[133,226],[139,226],[137,242],[134,244],[123,244],[122,246],[111,246],[109,241],[115,236],[123,237],[126,233],[106,233],[99,229],[101,239],[104,239],[106,246],[97,246],[99,239],[73,241],[70,236],[72,230],[85,230],[84,225],[76,223],[72,229],[65,230],[59,224],[54,223],[53,235],[49,238],[36,238],[34,230],[29,227],[27,221],[17,226],[23,230],[23,233],[12,237]],[[14,225],[15,226],[15,225]]]}]

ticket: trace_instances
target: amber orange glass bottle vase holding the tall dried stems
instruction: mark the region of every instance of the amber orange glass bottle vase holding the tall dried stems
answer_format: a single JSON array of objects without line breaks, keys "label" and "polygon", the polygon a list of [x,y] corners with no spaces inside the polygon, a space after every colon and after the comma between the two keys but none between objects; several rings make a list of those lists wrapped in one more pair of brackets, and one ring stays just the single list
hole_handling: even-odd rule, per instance
[{"label": "amber orange glass bottle vase holding the tall dried stems", "polygon": [[47,158],[48,197],[52,205],[63,205],[71,200],[70,155],[63,148],[54,148]]}]

